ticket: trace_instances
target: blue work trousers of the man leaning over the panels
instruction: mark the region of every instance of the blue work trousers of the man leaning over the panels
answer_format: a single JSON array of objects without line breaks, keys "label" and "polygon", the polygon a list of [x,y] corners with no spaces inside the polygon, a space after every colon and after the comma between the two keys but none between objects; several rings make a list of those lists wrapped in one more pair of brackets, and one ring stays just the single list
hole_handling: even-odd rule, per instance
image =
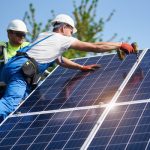
[{"label": "blue work trousers of the man leaning over the panels", "polygon": [[5,93],[0,99],[0,118],[6,118],[29,92],[21,72],[21,66],[27,61],[25,57],[12,58],[2,69],[0,80],[7,84]]}]

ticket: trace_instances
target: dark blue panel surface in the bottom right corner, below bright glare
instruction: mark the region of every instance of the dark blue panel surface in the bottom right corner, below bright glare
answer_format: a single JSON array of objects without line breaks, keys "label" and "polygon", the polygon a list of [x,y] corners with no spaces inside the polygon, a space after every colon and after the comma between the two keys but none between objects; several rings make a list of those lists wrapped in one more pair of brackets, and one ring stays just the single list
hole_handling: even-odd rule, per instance
[{"label": "dark blue panel surface in the bottom right corner, below bright glare", "polygon": [[145,150],[150,139],[150,103],[114,107],[88,149]]}]

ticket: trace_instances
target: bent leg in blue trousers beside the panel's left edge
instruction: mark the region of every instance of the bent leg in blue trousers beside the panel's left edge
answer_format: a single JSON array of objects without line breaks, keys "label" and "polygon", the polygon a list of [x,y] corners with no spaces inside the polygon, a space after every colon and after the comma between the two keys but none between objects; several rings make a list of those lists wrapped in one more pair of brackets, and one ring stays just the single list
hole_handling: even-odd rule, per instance
[{"label": "bent leg in blue trousers beside the panel's left edge", "polygon": [[0,99],[0,117],[6,118],[19,105],[27,90],[27,83],[20,74],[12,77],[4,96]]}]

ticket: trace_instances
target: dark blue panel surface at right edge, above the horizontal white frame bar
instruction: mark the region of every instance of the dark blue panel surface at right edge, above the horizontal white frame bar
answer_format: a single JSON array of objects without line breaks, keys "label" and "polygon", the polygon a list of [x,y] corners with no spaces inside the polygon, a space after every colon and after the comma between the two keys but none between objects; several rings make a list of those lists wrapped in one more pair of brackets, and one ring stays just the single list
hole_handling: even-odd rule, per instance
[{"label": "dark blue panel surface at right edge, above the horizontal white frame bar", "polygon": [[[126,75],[125,75],[126,76]],[[117,102],[145,100],[150,98],[150,50],[146,53],[132,75]]]}]

